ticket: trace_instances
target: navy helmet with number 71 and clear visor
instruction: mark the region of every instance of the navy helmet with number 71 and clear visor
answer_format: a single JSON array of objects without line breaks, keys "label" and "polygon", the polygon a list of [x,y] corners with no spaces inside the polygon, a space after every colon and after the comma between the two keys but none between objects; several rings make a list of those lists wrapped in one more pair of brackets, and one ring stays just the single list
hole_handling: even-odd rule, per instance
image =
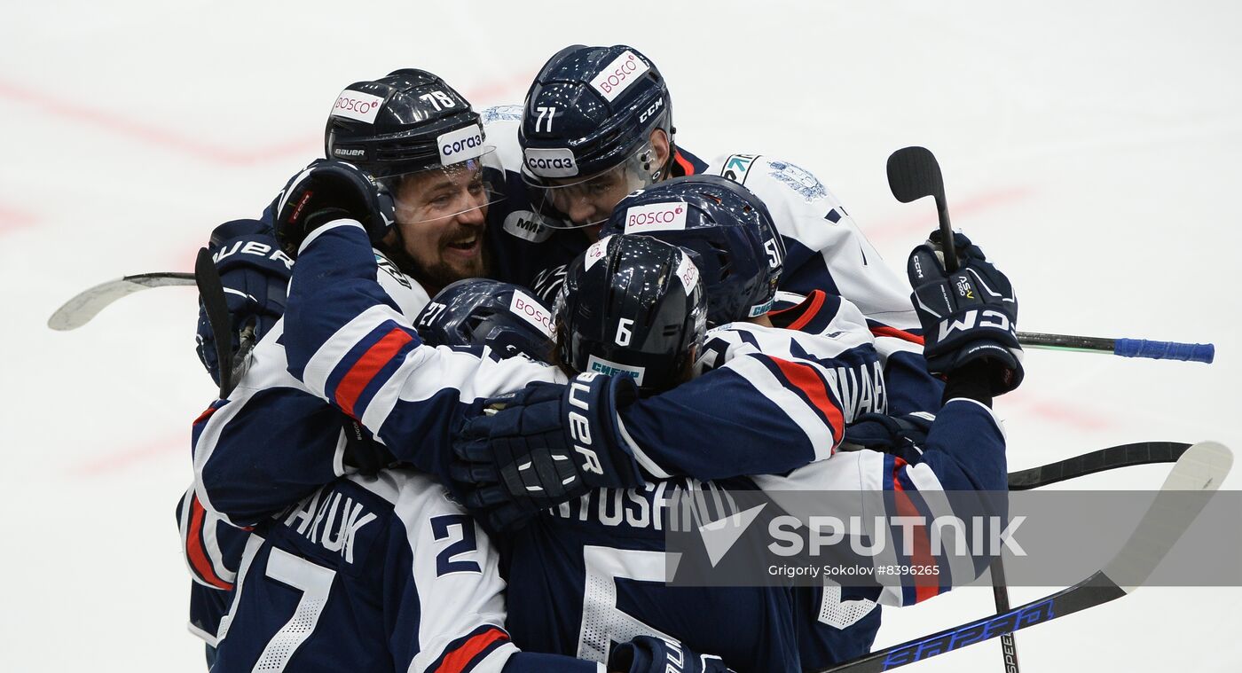
[{"label": "navy helmet with number 71 and clear visor", "polygon": [[[673,160],[672,98],[655,63],[633,47],[573,45],[539,71],[527,92],[518,142],[533,201],[551,214],[620,171],[622,194],[667,175]],[[656,164],[651,132],[663,129],[669,153]],[[559,206],[559,207],[558,207]],[[576,222],[585,226],[597,222]]]}]

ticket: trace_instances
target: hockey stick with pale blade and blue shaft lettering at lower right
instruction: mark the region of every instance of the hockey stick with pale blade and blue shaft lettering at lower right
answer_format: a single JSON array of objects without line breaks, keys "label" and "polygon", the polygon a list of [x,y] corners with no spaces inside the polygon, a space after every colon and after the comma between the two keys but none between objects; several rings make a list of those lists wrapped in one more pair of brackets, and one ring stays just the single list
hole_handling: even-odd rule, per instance
[{"label": "hockey stick with pale blade and blue shaft lettering at lower right", "polygon": [[1206,504],[1189,503],[1176,492],[1215,492],[1230,473],[1233,453],[1218,442],[1200,442],[1182,453],[1165,478],[1155,502],[1117,556],[1090,577],[1037,601],[975,620],[932,636],[886,647],[820,673],[873,673],[920,662],[968,644],[1064,617],[1131,594],[1151,575],[1165,554]]}]

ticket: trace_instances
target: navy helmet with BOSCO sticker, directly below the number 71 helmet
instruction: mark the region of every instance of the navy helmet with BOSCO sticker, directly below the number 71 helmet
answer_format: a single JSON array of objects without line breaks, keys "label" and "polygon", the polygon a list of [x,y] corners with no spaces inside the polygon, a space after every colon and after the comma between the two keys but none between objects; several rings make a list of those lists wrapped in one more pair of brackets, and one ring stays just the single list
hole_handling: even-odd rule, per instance
[{"label": "navy helmet with BOSCO sticker, directly below the number 71 helmet", "polygon": [[617,204],[600,232],[612,233],[645,233],[691,251],[713,325],[771,308],[785,242],[768,206],[733,180],[689,175],[638,190]]}]

